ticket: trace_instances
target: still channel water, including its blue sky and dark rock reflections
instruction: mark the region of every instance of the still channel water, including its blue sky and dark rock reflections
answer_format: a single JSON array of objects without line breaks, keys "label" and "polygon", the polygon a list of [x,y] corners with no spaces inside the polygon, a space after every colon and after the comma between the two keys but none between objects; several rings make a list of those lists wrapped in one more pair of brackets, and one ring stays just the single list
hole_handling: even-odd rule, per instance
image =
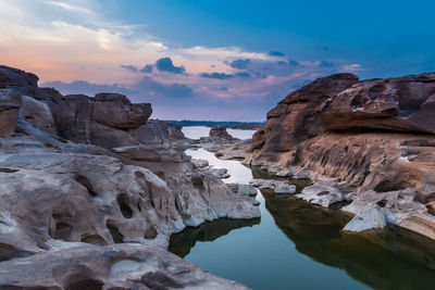
[{"label": "still channel water, including its blue sky and dark rock reflections", "polygon": [[[187,154],[227,168],[226,181],[253,177],[250,168],[206,150]],[[270,192],[257,199],[261,219],[187,228],[171,237],[170,250],[252,289],[434,289],[433,241],[397,228],[346,235],[350,217],[338,211]]]}]

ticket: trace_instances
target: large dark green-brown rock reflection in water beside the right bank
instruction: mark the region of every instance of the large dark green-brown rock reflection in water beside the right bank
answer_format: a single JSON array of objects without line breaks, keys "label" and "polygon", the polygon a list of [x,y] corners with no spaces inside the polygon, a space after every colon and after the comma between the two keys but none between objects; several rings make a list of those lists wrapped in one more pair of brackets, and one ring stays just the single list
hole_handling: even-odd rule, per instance
[{"label": "large dark green-brown rock reflection in water beside the right bank", "polygon": [[[435,243],[403,229],[347,235],[349,216],[294,198],[264,194],[265,206],[296,249],[375,289],[434,289]],[[289,262],[290,263],[290,262]]]}]

